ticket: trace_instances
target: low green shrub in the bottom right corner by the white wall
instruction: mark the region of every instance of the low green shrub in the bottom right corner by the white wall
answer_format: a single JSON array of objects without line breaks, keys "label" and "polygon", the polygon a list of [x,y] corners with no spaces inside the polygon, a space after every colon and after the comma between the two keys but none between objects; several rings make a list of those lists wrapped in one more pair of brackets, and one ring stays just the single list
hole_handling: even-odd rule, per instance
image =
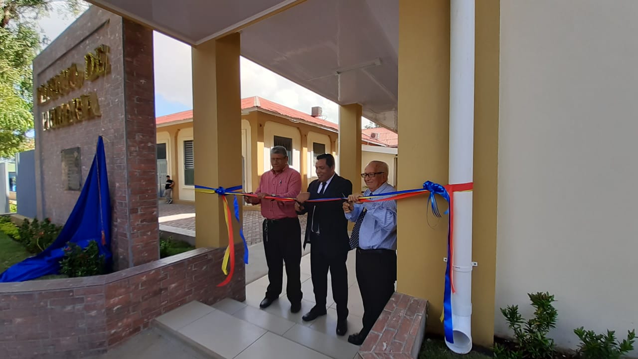
[{"label": "low green shrub in the bottom right corner by the white wall", "polygon": [[627,339],[616,342],[616,334],[607,330],[607,335],[596,334],[593,330],[574,329],[576,336],[581,339],[578,348],[582,359],[620,359],[623,355],[634,350],[635,330],[627,331]]}]

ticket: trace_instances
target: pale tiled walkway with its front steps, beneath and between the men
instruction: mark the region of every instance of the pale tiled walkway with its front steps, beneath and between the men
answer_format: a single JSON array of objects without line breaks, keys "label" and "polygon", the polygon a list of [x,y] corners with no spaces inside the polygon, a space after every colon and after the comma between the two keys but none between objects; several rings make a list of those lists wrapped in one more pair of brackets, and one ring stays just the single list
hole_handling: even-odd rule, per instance
[{"label": "pale tiled walkway with its front steps, beneath and between the men", "polygon": [[[348,334],[339,337],[335,333],[337,312],[330,289],[327,298],[328,314],[315,321],[304,322],[302,316],[315,305],[310,256],[301,261],[301,280],[304,298],[302,310],[290,312],[290,302],[282,293],[279,300],[267,309],[259,309],[263,299],[267,277],[246,286],[246,302],[226,299],[209,307],[191,302],[158,317],[158,325],[179,339],[203,349],[212,356],[222,358],[316,358],[352,359],[359,347],[348,343],[351,333],[361,326],[363,305],[355,279],[354,252],[348,256]],[[286,280],[283,287],[285,289]],[[223,323],[223,325],[220,325]]]}]

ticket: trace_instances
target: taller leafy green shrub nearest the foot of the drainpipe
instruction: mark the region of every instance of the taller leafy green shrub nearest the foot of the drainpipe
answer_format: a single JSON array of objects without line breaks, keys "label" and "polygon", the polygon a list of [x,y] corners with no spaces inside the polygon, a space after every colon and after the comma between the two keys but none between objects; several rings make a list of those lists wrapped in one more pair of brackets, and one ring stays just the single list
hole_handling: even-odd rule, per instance
[{"label": "taller leafy green shrub nearest the foot of the drainpipe", "polygon": [[[518,305],[511,305],[507,309],[501,308],[501,313],[507,319],[508,326],[514,331],[517,348],[494,346],[494,358],[498,359],[551,359],[554,358],[556,345],[554,340],[547,337],[551,328],[556,326],[556,309],[552,305],[554,296],[549,293],[528,294],[532,307],[536,310],[534,317],[527,322],[519,314]],[[523,326],[524,324],[524,326]]]}]

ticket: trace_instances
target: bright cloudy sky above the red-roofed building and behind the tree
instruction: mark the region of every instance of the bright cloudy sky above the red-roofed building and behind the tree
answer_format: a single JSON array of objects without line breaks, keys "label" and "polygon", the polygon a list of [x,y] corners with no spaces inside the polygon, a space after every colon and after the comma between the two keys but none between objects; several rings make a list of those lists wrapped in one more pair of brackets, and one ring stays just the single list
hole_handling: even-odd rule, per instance
[{"label": "bright cloudy sky above the red-roofed building and behind the tree", "polygon": [[[48,17],[40,20],[40,26],[43,33],[54,40],[74,20],[75,17],[54,10]],[[190,46],[160,33],[154,33],[153,40],[156,116],[192,109]],[[311,107],[320,106],[327,121],[338,123],[339,107],[336,103],[244,57],[241,57],[240,65],[242,98],[261,96],[306,113],[311,111]],[[367,123],[367,119],[362,119],[363,126]]]}]

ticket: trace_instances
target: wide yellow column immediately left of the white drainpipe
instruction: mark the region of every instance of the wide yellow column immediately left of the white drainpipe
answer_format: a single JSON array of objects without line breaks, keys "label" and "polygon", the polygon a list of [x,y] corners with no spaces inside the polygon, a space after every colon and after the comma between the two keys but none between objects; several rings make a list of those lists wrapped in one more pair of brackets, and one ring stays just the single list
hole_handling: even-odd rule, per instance
[{"label": "wide yellow column immediately left of the white drainpipe", "polygon": [[[447,184],[449,93],[449,1],[399,0],[399,190]],[[443,333],[447,216],[427,208],[424,196],[397,201],[397,291],[426,298],[427,330]]]}]

